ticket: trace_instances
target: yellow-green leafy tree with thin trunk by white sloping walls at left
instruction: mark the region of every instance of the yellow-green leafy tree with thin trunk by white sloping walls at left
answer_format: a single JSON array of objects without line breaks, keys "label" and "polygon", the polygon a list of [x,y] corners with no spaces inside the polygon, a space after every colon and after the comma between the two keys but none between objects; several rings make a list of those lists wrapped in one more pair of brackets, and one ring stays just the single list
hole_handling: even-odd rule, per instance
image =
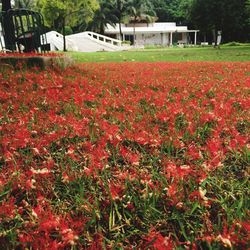
[{"label": "yellow-green leafy tree with thin trunk by white sloping walls at left", "polygon": [[40,1],[45,23],[63,32],[64,51],[66,51],[65,25],[78,25],[84,20],[89,22],[99,8],[96,0],[42,0]]}]

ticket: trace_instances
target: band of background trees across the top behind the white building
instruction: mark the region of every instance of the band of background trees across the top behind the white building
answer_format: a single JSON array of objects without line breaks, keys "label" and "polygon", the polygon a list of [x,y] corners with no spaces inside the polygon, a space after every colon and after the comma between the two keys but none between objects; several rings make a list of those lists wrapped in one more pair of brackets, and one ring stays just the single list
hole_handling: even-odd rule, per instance
[{"label": "band of background trees across the top behind the white building", "polygon": [[[4,1],[4,0],[2,0]],[[0,1],[1,2],[1,1]],[[176,22],[199,29],[200,41],[250,42],[250,0],[15,0],[15,7],[39,10],[48,29],[103,33],[107,24]]]}]

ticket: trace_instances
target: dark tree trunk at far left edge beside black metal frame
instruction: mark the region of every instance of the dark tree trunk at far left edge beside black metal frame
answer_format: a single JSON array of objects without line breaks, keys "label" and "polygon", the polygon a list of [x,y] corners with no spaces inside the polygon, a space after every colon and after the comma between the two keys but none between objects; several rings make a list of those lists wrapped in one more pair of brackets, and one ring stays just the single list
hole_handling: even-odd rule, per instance
[{"label": "dark tree trunk at far left edge beside black metal frame", "polygon": [[15,28],[13,19],[7,15],[7,11],[11,9],[10,0],[2,0],[3,30],[5,48],[11,51],[15,50]]}]

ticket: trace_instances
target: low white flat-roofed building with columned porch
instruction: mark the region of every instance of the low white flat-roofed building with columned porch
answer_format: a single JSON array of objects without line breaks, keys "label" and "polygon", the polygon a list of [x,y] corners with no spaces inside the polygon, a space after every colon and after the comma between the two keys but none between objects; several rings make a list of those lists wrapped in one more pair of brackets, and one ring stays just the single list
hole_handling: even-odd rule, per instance
[{"label": "low white flat-roofed building with columned porch", "polygon": [[[197,43],[199,30],[189,30],[187,26],[177,26],[176,23],[136,23],[135,39],[134,25],[122,24],[123,41],[135,40],[136,45],[161,45]],[[119,25],[108,25],[105,34],[120,39]],[[191,39],[190,39],[191,38]]]}]

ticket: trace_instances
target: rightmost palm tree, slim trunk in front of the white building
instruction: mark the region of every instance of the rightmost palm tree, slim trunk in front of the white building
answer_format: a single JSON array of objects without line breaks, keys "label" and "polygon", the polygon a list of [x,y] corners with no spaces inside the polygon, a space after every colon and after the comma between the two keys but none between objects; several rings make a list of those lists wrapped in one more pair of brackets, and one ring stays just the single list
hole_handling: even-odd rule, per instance
[{"label": "rightmost palm tree, slim trunk in front of the white building", "polygon": [[152,22],[155,17],[155,12],[149,0],[129,0],[128,13],[133,22],[134,46],[136,45],[135,24],[137,22],[146,21]]}]

